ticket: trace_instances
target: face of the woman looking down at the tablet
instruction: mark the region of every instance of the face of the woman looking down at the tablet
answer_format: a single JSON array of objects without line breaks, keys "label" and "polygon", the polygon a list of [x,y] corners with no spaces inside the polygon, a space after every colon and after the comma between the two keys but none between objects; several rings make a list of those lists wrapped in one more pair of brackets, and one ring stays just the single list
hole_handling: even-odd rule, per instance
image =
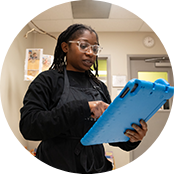
[{"label": "face of the woman looking down at the tablet", "polygon": [[[98,45],[96,34],[85,30],[82,35],[73,41],[85,41],[91,45]],[[79,50],[77,43],[67,44],[66,49],[67,70],[85,72],[90,69],[96,60],[96,55],[89,49],[86,53]]]}]

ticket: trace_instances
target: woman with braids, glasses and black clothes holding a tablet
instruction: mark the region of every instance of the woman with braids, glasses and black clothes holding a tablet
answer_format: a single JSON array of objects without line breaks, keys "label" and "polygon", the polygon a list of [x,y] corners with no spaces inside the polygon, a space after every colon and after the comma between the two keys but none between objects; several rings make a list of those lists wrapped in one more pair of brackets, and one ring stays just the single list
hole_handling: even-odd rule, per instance
[{"label": "woman with braids, glasses and black clothes holding a tablet", "polygon": [[[41,140],[32,174],[109,174],[112,170],[102,144],[80,143],[111,102],[107,87],[96,78],[100,51],[93,29],[71,25],[58,38],[50,70],[30,84],[20,110],[20,131],[27,140]],[[126,131],[128,142],[110,145],[135,149],[147,131],[143,120],[141,125]]]}]

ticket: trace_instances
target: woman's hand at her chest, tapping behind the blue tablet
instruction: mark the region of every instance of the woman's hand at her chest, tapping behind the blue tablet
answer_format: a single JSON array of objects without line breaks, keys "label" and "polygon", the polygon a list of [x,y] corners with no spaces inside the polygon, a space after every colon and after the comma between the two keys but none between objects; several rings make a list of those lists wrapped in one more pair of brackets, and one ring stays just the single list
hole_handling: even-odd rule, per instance
[{"label": "woman's hand at her chest, tapping behind the blue tablet", "polygon": [[91,117],[92,118],[99,118],[103,112],[108,108],[109,104],[103,102],[103,101],[90,101],[88,102],[89,107],[91,109]]}]

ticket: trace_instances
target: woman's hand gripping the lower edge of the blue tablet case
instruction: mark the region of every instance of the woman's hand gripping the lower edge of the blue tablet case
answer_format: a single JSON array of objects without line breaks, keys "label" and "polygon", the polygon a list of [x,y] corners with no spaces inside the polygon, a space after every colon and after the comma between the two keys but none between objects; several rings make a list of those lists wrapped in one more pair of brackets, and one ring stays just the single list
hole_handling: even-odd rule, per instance
[{"label": "woman's hand gripping the lower edge of the blue tablet case", "polygon": [[140,120],[141,127],[136,124],[132,124],[135,130],[126,130],[125,135],[130,138],[130,142],[134,143],[141,141],[147,133],[147,124],[144,120]]}]

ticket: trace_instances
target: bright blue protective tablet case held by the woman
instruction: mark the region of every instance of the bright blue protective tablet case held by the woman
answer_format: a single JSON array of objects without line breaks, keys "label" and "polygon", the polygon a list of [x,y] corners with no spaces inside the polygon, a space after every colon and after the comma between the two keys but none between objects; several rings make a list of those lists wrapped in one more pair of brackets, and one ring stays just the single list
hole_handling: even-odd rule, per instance
[{"label": "bright blue protective tablet case held by the woman", "polygon": [[174,87],[164,79],[154,83],[130,80],[120,94],[105,110],[91,129],[81,139],[83,145],[124,142],[124,135],[133,123],[146,122],[174,95]]}]

